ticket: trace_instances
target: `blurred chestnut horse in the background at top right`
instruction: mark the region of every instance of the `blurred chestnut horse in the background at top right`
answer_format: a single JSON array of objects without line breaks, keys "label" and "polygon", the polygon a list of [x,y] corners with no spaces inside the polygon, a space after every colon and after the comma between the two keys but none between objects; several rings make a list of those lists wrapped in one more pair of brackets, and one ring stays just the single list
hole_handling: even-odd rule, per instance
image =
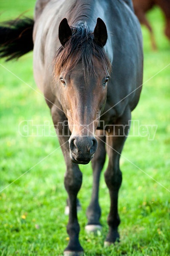
[{"label": "blurred chestnut horse in the background at top right", "polygon": [[159,6],[164,13],[165,29],[164,33],[170,40],[170,0],[133,0],[135,15],[138,17],[141,24],[145,25],[150,31],[152,48],[157,49],[156,41],[153,35],[153,29],[146,18],[146,13],[154,6]]}]

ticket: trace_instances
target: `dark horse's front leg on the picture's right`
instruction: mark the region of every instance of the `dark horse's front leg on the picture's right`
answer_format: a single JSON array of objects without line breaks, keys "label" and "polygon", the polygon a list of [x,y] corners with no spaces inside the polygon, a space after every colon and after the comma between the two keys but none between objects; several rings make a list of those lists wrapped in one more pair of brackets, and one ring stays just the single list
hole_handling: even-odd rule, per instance
[{"label": "dark horse's front leg on the picture's right", "polygon": [[124,112],[124,115],[117,120],[115,124],[116,126],[109,126],[108,135],[110,134],[110,136],[108,136],[106,140],[109,164],[106,172],[104,173],[104,177],[107,187],[109,188],[110,211],[107,219],[109,233],[107,235],[105,245],[112,244],[119,240],[118,225],[120,224],[120,218],[118,215],[118,190],[122,181],[122,175],[119,168],[119,159],[128,130],[130,128],[128,125],[130,116],[130,110],[127,109]]}]

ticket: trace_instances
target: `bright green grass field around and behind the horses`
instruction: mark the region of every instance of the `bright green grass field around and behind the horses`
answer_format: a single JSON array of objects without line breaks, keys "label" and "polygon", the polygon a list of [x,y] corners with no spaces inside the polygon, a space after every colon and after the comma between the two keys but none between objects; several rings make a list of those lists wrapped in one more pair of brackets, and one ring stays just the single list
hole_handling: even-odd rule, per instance
[{"label": "bright green grass field around and behind the horses", "polygon": [[[25,10],[31,16],[34,5],[35,0],[1,0],[0,20],[17,17]],[[170,255],[170,44],[163,34],[161,11],[153,9],[148,18],[158,50],[151,50],[149,32],[142,28],[144,86],[132,117],[140,125],[158,128],[153,140],[133,137],[131,129],[125,144],[119,193],[121,242],[115,246],[103,245],[109,212],[104,175],[100,184],[102,233],[94,236],[84,231],[92,169],[90,164],[81,166],[83,185],[78,197],[82,210],[78,218],[86,256]],[[38,130],[39,136],[35,128],[34,136],[21,136],[23,120],[33,120],[33,125],[49,123],[52,127],[49,109],[34,82],[32,53],[17,62],[0,61],[0,255],[63,255],[69,239],[68,216],[63,214],[67,197],[63,155],[57,138],[47,136],[48,125],[45,132]],[[54,134],[53,128],[51,131]],[[43,133],[45,136],[41,136]]]}]

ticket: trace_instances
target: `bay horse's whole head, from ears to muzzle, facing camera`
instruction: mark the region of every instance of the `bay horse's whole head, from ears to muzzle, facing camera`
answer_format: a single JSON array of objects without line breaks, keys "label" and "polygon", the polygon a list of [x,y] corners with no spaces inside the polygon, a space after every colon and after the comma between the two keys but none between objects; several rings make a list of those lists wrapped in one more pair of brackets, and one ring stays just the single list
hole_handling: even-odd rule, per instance
[{"label": "bay horse's whole head, from ears to muzzle, facing camera", "polygon": [[68,119],[70,158],[86,164],[98,143],[95,130],[107,98],[110,61],[104,52],[107,28],[97,19],[94,32],[86,23],[70,27],[64,18],[59,26],[61,47],[56,55],[55,74],[61,105]]}]

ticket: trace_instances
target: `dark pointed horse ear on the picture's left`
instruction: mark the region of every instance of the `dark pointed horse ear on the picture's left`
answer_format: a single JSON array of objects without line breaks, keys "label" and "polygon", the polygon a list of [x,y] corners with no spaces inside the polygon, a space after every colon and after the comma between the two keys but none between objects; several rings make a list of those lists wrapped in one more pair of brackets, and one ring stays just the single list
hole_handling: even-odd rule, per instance
[{"label": "dark pointed horse ear on the picture's left", "polygon": [[69,37],[71,35],[72,35],[72,31],[69,27],[67,19],[64,18],[63,20],[61,20],[61,23],[60,23],[59,29],[58,29],[58,37],[59,37],[59,40],[60,40],[62,46],[64,46],[66,44],[66,42],[69,40]]}]

